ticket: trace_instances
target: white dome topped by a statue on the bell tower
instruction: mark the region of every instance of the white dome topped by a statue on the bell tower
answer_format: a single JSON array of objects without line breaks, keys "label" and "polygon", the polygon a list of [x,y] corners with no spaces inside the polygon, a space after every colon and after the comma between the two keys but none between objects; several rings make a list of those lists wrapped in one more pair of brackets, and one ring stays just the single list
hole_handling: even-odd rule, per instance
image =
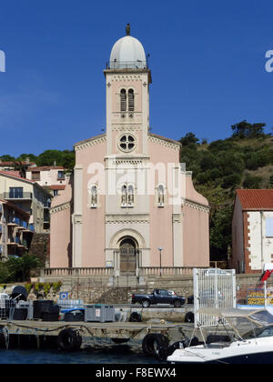
[{"label": "white dome topped by a statue on the bell tower", "polygon": [[110,55],[110,69],[147,69],[144,47],[130,35],[130,25],[126,25],[126,36],[116,41]]}]

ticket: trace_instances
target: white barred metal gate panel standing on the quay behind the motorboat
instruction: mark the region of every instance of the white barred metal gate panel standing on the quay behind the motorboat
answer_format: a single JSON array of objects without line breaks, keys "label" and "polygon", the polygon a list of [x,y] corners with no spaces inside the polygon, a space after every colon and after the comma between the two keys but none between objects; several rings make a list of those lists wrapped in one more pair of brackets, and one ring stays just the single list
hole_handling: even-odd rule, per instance
[{"label": "white barred metal gate panel standing on the quay behind the motorboat", "polygon": [[236,307],[235,269],[194,268],[195,327],[213,327],[217,317],[199,314],[202,307]]}]

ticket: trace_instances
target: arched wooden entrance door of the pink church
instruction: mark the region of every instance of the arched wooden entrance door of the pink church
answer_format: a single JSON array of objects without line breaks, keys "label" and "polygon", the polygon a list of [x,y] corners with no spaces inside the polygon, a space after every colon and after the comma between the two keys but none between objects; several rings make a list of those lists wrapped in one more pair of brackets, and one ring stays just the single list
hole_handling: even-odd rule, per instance
[{"label": "arched wooden entrance door of the pink church", "polygon": [[136,275],[137,243],[132,237],[123,237],[119,244],[120,273]]}]

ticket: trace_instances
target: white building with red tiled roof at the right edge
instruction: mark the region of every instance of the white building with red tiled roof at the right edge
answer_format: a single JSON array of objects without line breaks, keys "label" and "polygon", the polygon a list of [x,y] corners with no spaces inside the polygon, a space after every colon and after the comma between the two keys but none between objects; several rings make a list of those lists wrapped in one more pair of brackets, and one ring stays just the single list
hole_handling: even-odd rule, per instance
[{"label": "white building with red tiled roof at the right edge", "polygon": [[261,273],[273,262],[273,190],[238,189],[232,220],[232,267]]}]

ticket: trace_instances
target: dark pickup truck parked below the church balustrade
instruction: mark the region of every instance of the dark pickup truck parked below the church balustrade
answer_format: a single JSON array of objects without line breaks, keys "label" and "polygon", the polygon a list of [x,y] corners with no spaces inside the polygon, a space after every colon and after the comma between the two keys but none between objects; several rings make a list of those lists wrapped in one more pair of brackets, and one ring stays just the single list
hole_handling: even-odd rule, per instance
[{"label": "dark pickup truck parked below the church balustrade", "polygon": [[151,295],[132,295],[132,304],[139,303],[142,307],[151,304],[171,304],[174,307],[182,307],[186,298],[177,296],[175,292],[164,289],[155,289]]}]

